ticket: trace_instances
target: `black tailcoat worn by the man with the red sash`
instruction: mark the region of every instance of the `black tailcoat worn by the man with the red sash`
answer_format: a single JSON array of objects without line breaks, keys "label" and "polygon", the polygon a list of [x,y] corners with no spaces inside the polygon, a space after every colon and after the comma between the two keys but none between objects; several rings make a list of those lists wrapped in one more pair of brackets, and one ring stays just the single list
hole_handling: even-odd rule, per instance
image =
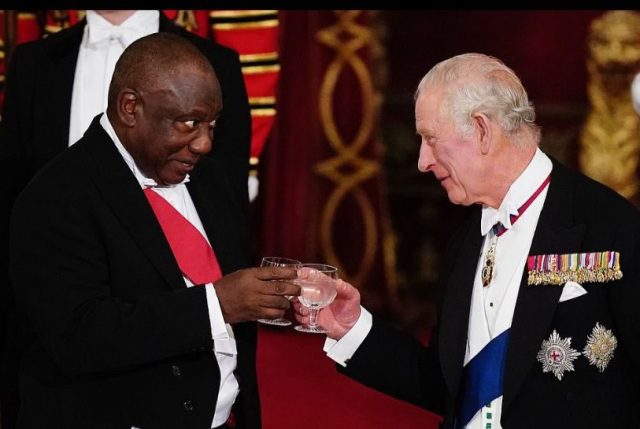
[{"label": "black tailcoat worn by the man with the red sash", "polygon": [[[203,158],[187,184],[223,273],[247,266],[247,200]],[[186,288],[96,118],[14,205],[11,283],[31,337],[19,428],[210,428],[220,384],[203,287]],[[260,427],[255,323],[237,324],[235,413]]]}]

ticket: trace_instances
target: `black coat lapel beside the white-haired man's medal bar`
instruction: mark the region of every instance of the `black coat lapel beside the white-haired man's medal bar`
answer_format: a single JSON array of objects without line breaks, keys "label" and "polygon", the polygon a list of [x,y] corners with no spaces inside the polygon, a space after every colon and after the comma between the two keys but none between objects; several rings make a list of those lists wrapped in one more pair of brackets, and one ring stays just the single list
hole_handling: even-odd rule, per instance
[{"label": "black coat lapel beside the white-haired man's medal bar", "polygon": [[[564,254],[579,251],[585,225],[573,221],[575,198],[573,183],[565,167],[554,161],[547,198],[540,213],[529,255]],[[527,268],[523,271],[520,291],[511,323],[510,342],[504,377],[506,411],[546,339],[562,293],[561,286],[528,286]],[[540,369],[542,370],[542,369]]]}]

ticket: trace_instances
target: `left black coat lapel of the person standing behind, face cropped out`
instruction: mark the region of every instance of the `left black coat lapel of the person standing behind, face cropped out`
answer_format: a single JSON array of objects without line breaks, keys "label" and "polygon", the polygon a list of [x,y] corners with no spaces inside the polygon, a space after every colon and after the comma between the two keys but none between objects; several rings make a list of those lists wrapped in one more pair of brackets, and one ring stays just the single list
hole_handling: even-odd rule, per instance
[{"label": "left black coat lapel of the person standing behind, face cropped out", "polygon": [[[43,150],[53,154],[62,152],[69,142],[71,95],[78,52],[85,25],[81,22],[51,37],[46,44],[44,64],[35,82],[35,119]],[[46,124],[63,124],[47,126]]]}]

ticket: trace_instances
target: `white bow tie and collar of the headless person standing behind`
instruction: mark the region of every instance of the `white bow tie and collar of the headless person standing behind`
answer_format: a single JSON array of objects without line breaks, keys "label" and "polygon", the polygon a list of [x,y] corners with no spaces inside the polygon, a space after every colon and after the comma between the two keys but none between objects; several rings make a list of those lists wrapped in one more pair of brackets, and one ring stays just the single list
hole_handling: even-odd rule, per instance
[{"label": "white bow tie and collar of the headless person standing behind", "polygon": [[87,10],[84,46],[97,46],[104,41],[118,39],[123,48],[135,40],[160,30],[158,10],[137,10],[120,25],[113,25],[94,10]]}]

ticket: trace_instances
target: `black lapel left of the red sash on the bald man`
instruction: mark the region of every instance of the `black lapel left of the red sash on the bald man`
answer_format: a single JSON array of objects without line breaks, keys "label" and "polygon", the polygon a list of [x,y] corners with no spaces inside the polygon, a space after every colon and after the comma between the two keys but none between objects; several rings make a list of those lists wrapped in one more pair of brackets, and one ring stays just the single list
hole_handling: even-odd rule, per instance
[{"label": "black lapel left of the red sash on the bald man", "polygon": [[88,171],[98,192],[166,280],[168,287],[185,287],[180,269],[151,206],[98,118],[93,120],[85,137],[77,144],[82,145],[88,154]]}]

